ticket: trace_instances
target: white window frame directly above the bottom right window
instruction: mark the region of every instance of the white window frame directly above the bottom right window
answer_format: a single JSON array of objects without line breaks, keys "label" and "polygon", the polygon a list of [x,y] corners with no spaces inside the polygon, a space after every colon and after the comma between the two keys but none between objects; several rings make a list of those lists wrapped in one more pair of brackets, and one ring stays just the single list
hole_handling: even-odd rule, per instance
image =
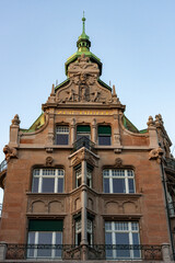
[{"label": "white window frame directly above the bottom right window", "polygon": [[[118,173],[117,175],[114,174],[115,171]],[[103,180],[104,179],[109,180],[109,194],[114,194],[113,179],[124,179],[125,180],[126,193],[124,193],[124,194],[130,194],[129,193],[129,179],[132,179],[133,180],[133,193],[136,193],[133,170],[130,170],[130,169],[104,169],[103,170]]]}]

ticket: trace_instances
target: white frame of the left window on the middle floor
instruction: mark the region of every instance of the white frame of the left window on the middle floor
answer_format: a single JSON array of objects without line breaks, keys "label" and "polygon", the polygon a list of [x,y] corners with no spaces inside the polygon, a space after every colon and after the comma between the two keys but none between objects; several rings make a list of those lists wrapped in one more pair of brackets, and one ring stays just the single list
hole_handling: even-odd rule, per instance
[{"label": "white frame of the left window on the middle floor", "polygon": [[[47,174],[48,171],[54,171],[54,172],[52,172],[52,174]],[[36,172],[36,174],[35,174],[35,172]],[[46,172],[46,174],[43,174],[44,172]],[[56,194],[56,193],[65,192],[65,170],[62,168],[34,168],[32,175],[33,175],[32,176],[32,193]],[[36,179],[38,179],[38,180],[36,180]],[[43,190],[45,179],[46,179],[46,182],[47,182],[47,179],[54,179],[54,184],[52,184],[54,191],[44,191]],[[59,184],[59,180],[62,181],[62,185],[61,185],[61,183]],[[61,185],[62,191],[59,191],[60,185]]]}]

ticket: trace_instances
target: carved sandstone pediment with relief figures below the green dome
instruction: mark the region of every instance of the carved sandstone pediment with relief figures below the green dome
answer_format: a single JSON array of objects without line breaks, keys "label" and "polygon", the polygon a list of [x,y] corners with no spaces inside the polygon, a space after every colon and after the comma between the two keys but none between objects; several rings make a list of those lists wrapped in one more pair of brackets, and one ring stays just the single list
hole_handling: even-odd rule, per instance
[{"label": "carved sandstone pediment with relief figures below the green dome", "polygon": [[66,104],[110,104],[119,103],[112,91],[98,82],[98,65],[83,54],[68,67],[69,83],[56,92],[56,102]]}]

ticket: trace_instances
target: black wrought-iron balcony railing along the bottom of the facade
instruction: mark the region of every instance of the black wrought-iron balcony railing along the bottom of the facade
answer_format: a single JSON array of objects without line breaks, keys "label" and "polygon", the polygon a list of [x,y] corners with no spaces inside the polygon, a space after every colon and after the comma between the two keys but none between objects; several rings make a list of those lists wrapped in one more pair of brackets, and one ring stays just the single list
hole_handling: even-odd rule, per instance
[{"label": "black wrought-iron balcony railing along the bottom of the facade", "polygon": [[[81,245],[8,244],[7,260],[60,259],[81,260]],[[161,245],[96,244],[86,247],[88,260],[162,260]]]}]

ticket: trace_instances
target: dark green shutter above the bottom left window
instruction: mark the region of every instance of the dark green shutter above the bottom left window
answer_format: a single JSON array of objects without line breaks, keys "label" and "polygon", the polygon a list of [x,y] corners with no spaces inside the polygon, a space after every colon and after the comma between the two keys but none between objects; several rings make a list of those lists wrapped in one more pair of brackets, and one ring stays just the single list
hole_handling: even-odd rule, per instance
[{"label": "dark green shutter above the bottom left window", "polygon": [[62,220],[30,220],[28,231],[62,231]]}]

